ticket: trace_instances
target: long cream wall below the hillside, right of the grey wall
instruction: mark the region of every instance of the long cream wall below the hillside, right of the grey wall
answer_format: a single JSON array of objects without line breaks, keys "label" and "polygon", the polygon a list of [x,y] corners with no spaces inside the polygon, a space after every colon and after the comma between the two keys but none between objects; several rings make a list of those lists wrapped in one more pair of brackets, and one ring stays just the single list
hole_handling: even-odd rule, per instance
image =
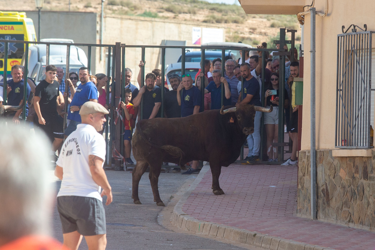
[{"label": "long cream wall below the hillside, right of the grey wall", "polygon": [[[98,18],[99,19],[99,18]],[[121,42],[126,45],[161,45],[162,40],[186,40],[187,46],[192,44],[192,28],[221,28],[225,41],[225,28],[220,25],[210,25],[197,22],[177,22],[173,20],[146,18],[141,16],[106,16],[104,19],[104,44],[115,44]],[[161,69],[160,49],[145,49],[145,72],[151,72],[155,68]],[[178,56],[181,54],[179,52]],[[139,72],[139,61],[141,60],[140,48],[126,48],[125,66],[133,71],[132,83],[136,82]],[[176,60],[177,61],[177,60]],[[97,64],[106,63],[98,61]],[[99,67],[104,67],[103,65]]]}]

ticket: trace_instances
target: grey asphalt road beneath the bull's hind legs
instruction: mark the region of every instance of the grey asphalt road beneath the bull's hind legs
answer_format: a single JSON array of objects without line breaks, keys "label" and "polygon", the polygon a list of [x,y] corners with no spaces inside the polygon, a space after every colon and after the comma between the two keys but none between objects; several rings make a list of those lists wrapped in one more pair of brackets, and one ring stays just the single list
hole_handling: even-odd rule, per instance
[{"label": "grey asphalt road beneath the bull's hind legs", "polygon": [[[196,174],[161,173],[159,177],[160,198],[166,207],[158,207],[153,201],[150,181],[146,172],[139,183],[139,199],[142,205],[133,204],[132,174],[130,171],[106,171],[112,187],[113,202],[105,206],[107,218],[107,249],[249,249],[245,245],[233,245],[211,238],[198,237],[179,231],[169,222],[175,203],[195,180]],[[55,177],[56,192],[61,181]],[[104,203],[105,203],[104,198]],[[63,241],[60,218],[54,207],[52,236]],[[88,249],[83,240],[79,249]],[[251,248],[255,250],[256,248]]]}]

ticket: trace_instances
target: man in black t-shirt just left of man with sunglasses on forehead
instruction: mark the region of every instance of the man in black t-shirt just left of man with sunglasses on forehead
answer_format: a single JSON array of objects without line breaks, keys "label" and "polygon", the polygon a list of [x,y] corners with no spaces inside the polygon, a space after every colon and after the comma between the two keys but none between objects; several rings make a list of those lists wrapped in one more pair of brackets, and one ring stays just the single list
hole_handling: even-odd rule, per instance
[{"label": "man in black t-shirt just left of man with sunglasses on forehead", "polygon": [[181,117],[181,106],[177,102],[177,88],[180,85],[181,79],[177,74],[169,76],[169,83],[172,90],[164,95],[164,115],[166,118]]}]

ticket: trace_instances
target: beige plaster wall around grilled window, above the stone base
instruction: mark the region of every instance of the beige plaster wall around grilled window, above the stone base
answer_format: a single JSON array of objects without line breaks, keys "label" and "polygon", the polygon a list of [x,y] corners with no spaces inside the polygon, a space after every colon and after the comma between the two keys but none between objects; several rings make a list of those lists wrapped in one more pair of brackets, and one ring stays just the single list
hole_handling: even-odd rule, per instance
[{"label": "beige plaster wall around grilled window, above the stone base", "polygon": [[[310,1],[306,4],[310,4]],[[326,1],[316,0],[317,11],[324,12]],[[375,31],[374,1],[329,1],[327,16],[316,15],[316,147],[318,149],[335,148],[336,120],[336,68],[337,68],[337,35],[342,34],[351,24]],[[371,13],[372,12],[372,13]],[[301,150],[310,150],[310,41],[311,15],[305,15],[304,27],[304,88],[303,120]],[[360,30],[358,30],[360,31]],[[348,31],[350,32],[350,31]],[[374,44],[373,44],[374,47]],[[375,72],[373,72],[374,74]],[[372,96],[374,98],[374,96]]]}]

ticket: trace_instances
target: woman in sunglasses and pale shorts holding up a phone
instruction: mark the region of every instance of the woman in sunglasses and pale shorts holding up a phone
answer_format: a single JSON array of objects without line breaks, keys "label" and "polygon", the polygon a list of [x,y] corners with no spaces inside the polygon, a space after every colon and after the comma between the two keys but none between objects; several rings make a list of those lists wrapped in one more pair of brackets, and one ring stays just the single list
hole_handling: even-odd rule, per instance
[{"label": "woman in sunglasses and pale shorts holding up a phone", "polygon": [[[272,147],[273,142],[278,142],[279,139],[279,74],[271,74],[271,84],[267,88],[264,95],[266,98],[266,107],[270,108],[273,106],[273,111],[270,113],[264,113],[264,124],[266,126],[267,133],[267,154],[269,162],[278,161],[278,148]],[[285,91],[285,103],[284,106],[288,105],[288,94]]]}]

